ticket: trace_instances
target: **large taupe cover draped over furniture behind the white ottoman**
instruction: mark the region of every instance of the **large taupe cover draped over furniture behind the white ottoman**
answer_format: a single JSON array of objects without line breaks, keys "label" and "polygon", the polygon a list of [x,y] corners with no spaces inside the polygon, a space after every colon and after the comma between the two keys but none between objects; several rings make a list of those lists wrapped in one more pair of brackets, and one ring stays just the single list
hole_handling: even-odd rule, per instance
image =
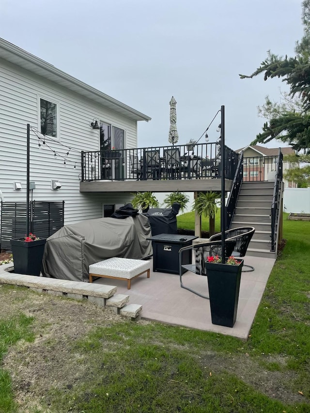
[{"label": "large taupe cover draped over furniture behind the white ottoman", "polygon": [[112,257],[142,260],[152,255],[148,219],[89,219],[65,225],[47,238],[42,274],[71,281],[89,281],[89,265]]}]

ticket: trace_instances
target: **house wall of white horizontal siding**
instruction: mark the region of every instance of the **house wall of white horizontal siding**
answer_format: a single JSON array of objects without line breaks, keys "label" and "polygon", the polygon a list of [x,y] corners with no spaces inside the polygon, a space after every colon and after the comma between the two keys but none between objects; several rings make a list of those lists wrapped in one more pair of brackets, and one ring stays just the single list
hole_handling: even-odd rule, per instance
[{"label": "house wall of white horizontal siding", "polygon": [[[47,138],[46,142],[51,149],[40,150],[38,138],[31,131],[30,180],[35,182],[31,199],[64,200],[65,224],[102,217],[103,204],[126,203],[132,199],[130,194],[80,193],[79,181],[81,151],[99,149],[99,130],[90,126],[93,118],[124,129],[126,148],[137,147],[136,121],[1,59],[0,91],[2,200],[26,200],[27,123],[34,129],[39,129],[40,97],[58,105],[59,141]],[[67,147],[72,149],[66,156]],[[63,164],[63,158],[55,158],[53,151],[66,158],[66,165]],[[59,181],[62,187],[52,190],[51,180]],[[22,189],[14,190],[14,182],[20,182]]]}]

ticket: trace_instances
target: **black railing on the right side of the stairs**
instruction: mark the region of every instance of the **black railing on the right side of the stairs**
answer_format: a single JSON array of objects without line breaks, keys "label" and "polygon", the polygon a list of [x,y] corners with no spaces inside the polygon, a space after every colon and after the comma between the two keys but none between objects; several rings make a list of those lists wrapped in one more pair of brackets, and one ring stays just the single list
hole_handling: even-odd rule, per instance
[{"label": "black railing on the right side of the stairs", "polygon": [[273,189],[272,205],[271,205],[271,251],[276,252],[277,234],[279,227],[279,208],[281,197],[281,184],[283,178],[283,153],[279,148],[279,154],[276,165],[275,185]]}]

